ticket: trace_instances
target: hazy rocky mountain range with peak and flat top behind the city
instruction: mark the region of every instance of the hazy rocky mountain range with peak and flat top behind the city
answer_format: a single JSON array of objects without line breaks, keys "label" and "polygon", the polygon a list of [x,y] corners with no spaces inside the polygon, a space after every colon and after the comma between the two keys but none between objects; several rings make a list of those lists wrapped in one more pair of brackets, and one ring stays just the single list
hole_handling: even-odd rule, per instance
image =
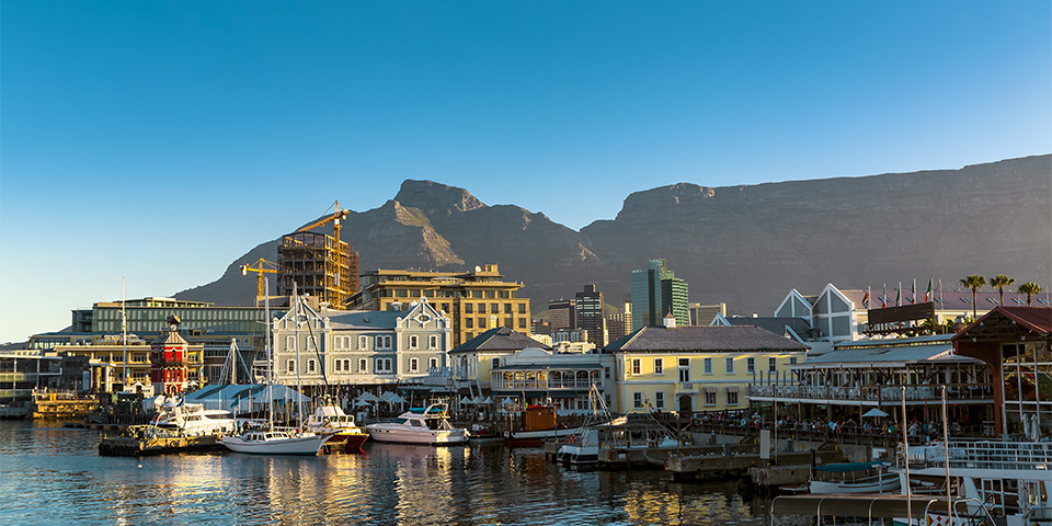
[{"label": "hazy rocky mountain range with peak and flat top behind the city", "polygon": [[[534,311],[595,283],[619,304],[633,268],[653,258],[690,286],[690,300],[769,315],[791,288],[826,283],[889,288],[969,274],[1052,286],[1052,156],[960,170],[636,192],[613,220],[574,231],[513,205],[488,206],[464,188],[405,181],[393,199],[352,213],[344,239],[361,268],[464,271],[498,263],[523,282]],[[276,261],[277,240],[233,262],[181,299],[251,304],[239,265]],[[908,284],[907,284],[908,283]]]}]

